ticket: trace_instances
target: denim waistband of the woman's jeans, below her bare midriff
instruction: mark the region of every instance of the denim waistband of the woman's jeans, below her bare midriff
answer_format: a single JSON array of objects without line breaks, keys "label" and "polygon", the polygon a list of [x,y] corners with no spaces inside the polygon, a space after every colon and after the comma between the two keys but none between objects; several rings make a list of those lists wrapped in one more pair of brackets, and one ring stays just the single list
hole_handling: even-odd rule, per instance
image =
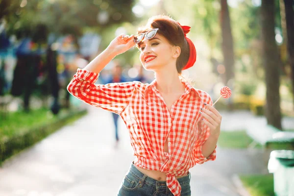
[{"label": "denim waistband of the woman's jeans, below her bare midriff", "polygon": [[[152,187],[157,187],[157,188],[166,188],[167,184],[166,181],[161,181],[161,180],[155,180],[151,177],[148,177],[146,174],[140,172],[134,164],[131,164],[131,167],[129,169],[129,173],[131,173],[134,177],[138,178],[139,180],[142,181],[142,183],[146,183]],[[190,178],[191,174],[189,172],[188,175],[178,178],[178,182],[180,183],[181,186],[184,186],[186,184],[190,184]]]}]

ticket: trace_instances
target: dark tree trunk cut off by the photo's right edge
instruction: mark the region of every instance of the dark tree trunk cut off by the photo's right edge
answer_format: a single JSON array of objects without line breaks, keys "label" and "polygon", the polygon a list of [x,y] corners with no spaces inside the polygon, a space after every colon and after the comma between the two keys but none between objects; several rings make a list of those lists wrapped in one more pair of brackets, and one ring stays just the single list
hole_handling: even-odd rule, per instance
[{"label": "dark tree trunk cut off by the photo's right edge", "polygon": [[[294,10],[293,0],[284,0],[285,3],[285,18],[286,18],[286,27],[287,27],[287,46],[289,54],[289,63],[291,66],[292,74],[292,88],[294,94]],[[294,102],[294,99],[293,99]],[[293,108],[294,109],[294,108]]]}]

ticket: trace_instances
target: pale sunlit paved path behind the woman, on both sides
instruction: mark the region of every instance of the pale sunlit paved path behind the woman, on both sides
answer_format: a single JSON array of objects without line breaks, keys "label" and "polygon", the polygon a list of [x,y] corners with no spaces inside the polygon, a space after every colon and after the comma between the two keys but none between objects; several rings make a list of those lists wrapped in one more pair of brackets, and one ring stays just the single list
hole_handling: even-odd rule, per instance
[{"label": "pale sunlit paved path behind the woman, on both sides", "polygon": [[[115,196],[132,160],[123,121],[115,145],[111,113],[89,113],[7,160],[0,168],[0,196]],[[226,120],[224,118],[224,120]],[[235,173],[267,172],[260,150],[218,147],[217,160],[191,169],[192,196],[239,196]]]}]

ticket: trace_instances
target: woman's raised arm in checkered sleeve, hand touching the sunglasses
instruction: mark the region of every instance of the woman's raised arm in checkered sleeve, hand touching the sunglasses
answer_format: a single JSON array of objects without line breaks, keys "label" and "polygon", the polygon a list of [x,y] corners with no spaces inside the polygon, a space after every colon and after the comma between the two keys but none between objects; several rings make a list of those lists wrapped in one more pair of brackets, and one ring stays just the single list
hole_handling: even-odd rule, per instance
[{"label": "woman's raised arm in checkered sleeve, hand touching the sunglasses", "polygon": [[67,89],[76,98],[97,107],[120,114],[127,106],[135,82],[95,85],[99,72],[118,54],[134,46],[133,36],[116,37],[102,53],[84,69],[78,69]]}]

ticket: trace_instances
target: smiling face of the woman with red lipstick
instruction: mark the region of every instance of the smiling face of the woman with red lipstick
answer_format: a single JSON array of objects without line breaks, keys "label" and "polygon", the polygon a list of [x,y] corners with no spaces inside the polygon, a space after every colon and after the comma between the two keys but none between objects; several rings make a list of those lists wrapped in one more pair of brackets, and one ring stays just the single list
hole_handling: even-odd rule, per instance
[{"label": "smiling face of the woman with red lipstick", "polygon": [[152,39],[144,39],[140,50],[140,60],[146,70],[156,71],[171,64],[175,67],[174,47],[158,33]]}]

